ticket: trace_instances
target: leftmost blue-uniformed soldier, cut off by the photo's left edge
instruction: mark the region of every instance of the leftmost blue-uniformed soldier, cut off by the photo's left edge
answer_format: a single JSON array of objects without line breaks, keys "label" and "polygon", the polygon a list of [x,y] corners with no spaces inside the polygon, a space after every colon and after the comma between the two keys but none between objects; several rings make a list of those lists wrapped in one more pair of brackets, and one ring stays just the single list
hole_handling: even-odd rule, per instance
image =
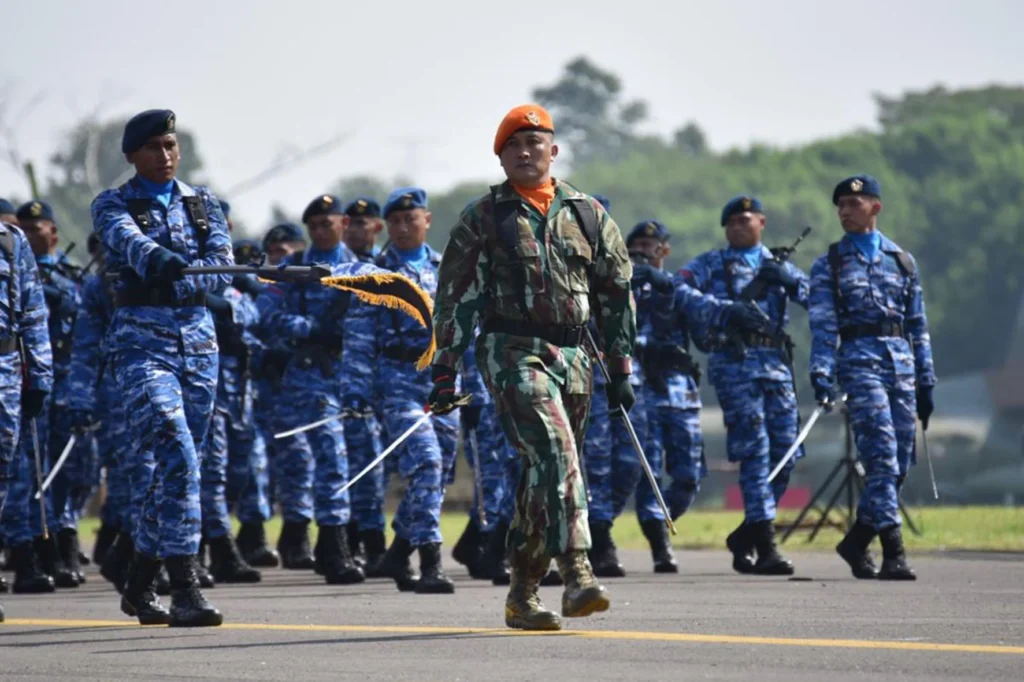
[{"label": "leftmost blue-uniformed soldier, cut off by the photo's left edge", "polygon": [[[43,414],[53,387],[53,360],[32,247],[10,223],[0,223],[0,516],[25,518],[35,501],[22,472],[35,467],[18,442],[32,440],[31,422]],[[53,580],[39,567],[31,528],[18,537],[5,534],[5,540],[15,571],[14,592],[52,592]]]}]

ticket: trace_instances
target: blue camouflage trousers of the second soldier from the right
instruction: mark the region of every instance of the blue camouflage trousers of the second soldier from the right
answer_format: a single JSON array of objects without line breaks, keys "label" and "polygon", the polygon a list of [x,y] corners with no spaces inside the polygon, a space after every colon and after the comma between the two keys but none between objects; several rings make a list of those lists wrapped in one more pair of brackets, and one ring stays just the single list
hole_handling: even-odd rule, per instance
[{"label": "blue camouflage trousers of the second soldier from the right", "polygon": [[771,469],[793,445],[800,431],[797,394],[787,382],[766,379],[717,384],[726,427],[730,462],[739,463],[739,488],[746,523],[774,520],[776,504],[785,493],[790,473],[803,449],[778,476],[768,482]]}]

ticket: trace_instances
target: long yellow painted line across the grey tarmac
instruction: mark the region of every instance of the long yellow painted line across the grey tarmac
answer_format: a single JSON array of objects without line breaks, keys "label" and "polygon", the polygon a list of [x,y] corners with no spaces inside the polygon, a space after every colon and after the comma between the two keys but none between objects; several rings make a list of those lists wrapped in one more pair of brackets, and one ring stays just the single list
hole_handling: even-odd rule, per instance
[{"label": "long yellow painted line across the grey tarmac", "polygon": [[[131,621],[73,621],[59,619],[9,619],[4,625],[48,628],[135,628]],[[3,626],[0,626],[2,628]],[[162,628],[164,626],[148,626]],[[207,632],[214,629],[205,629]],[[431,626],[346,626],[278,625],[270,623],[226,623],[219,630],[255,632],[354,633],[386,635],[485,635],[500,637],[578,637],[618,641],[679,642],[687,644],[741,644],[762,646],[816,646],[838,649],[874,649],[895,651],[940,651],[955,653],[1002,653],[1024,655],[1024,646],[1001,644],[950,644],[942,642],[900,642],[869,639],[798,639],[790,637],[751,637],[740,635],[701,635],[676,632],[640,632],[629,630],[562,630],[560,632],[523,632],[504,628],[443,628]]]}]

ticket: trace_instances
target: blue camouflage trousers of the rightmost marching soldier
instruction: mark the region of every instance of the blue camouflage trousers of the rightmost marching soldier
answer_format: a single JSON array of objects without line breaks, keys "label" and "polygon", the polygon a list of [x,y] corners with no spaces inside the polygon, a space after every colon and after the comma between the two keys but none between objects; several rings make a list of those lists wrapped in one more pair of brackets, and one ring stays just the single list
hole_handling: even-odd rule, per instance
[{"label": "blue camouflage trousers of the rightmost marching soldier", "polygon": [[850,425],[864,466],[857,520],[883,530],[900,525],[899,491],[915,462],[918,400],[914,378],[887,369],[841,369]]}]

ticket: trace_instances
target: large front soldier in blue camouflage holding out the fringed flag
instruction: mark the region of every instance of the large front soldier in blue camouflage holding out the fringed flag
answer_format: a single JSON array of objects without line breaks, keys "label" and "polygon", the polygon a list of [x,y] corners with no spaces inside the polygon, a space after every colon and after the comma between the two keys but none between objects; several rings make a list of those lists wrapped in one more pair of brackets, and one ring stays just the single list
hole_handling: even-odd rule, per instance
[{"label": "large front soldier in blue camouflage holding out the fringed flag", "polygon": [[[131,422],[135,457],[156,468],[139,523],[121,608],[140,623],[218,626],[197,573],[202,513],[200,457],[217,387],[217,339],[206,294],[229,278],[185,276],[189,265],[231,265],[217,200],[175,179],[180,154],[174,114],[150,110],[125,126],[122,152],[135,175],[92,203],[108,269],[119,273],[108,331],[111,367]],[[168,612],[153,592],[161,562],[171,583]]]}]

